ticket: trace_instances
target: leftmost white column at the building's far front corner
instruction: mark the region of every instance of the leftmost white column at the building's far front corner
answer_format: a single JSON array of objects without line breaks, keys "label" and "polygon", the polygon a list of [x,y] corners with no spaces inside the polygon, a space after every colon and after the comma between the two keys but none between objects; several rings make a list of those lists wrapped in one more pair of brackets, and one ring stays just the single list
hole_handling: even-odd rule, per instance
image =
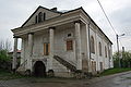
[{"label": "leftmost white column at the building's far front corner", "polygon": [[12,70],[15,72],[16,69],[16,58],[17,58],[17,38],[14,37],[14,51],[13,51],[13,62],[12,62]]}]

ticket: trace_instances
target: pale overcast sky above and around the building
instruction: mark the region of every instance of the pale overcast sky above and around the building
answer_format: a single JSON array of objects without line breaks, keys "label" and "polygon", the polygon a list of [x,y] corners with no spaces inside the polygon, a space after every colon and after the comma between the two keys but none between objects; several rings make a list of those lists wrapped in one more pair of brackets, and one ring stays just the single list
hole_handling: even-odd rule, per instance
[{"label": "pale overcast sky above and around the building", "polygon": [[[99,0],[109,20],[120,37],[120,48],[131,50],[131,0]],[[9,39],[13,45],[11,29],[20,27],[38,5],[58,10],[72,10],[80,7],[90,14],[96,24],[114,42],[116,51],[116,35],[107,22],[97,0],[0,0],[0,40]]]}]

